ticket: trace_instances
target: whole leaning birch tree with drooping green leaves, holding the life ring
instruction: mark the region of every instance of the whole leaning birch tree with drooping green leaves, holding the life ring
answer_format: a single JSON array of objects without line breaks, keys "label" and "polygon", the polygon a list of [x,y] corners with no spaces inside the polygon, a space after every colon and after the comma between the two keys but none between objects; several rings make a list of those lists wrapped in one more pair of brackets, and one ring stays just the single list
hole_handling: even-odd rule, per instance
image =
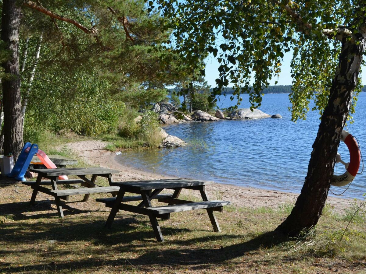
[{"label": "whole leaning birch tree with drooping green leaves, holding the life ring", "polygon": [[194,69],[209,53],[219,61],[212,103],[231,82],[238,99],[249,93],[251,108],[260,106],[262,88],[279,76],[284,53],[293,51],[292,119],[305,119],[314,100],[321,122],[301,194],[277,231],[298,235],[313,228],[328,195],[341,131],[354,110],[352,98],[360,89],[366,1],[157,0],[148,5],[172,18],[165,25],[173,30],[166,45],[184,64]]}]

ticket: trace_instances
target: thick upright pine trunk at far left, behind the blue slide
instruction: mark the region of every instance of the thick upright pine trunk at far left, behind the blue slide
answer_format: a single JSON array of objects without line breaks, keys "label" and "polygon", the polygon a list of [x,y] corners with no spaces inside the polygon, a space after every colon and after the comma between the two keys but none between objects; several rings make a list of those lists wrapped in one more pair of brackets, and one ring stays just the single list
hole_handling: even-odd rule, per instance
[{"label": "thick upright pine trunk at far left, behind the blue slide", "polygon": [[10,50],[10,58],[2,64],[4,103],[4,154],[13,153],[15,160],[23,147],[22,115],[20,113],[20,78],[19,78],[19,23],[20,8],[14,0],[3,0],[1,21],[1,39]]}]

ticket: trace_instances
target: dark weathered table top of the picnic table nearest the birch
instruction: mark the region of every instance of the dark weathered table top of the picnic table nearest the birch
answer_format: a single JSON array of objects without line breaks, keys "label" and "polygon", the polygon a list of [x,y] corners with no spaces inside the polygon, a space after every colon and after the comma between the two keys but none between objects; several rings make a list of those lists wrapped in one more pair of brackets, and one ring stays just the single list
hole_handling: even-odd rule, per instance
[{"label": "dark weathered table top of the picnic table nearest the birch", "polygon": [[163,179],[163,180],[146,180],[131,182],[113,182],[112,186],[124,187],[126,190],[153,190],[153,189],[169,189],[188,186],[205,186],[213,184],[212,181],[200,181],[191,179]]}]

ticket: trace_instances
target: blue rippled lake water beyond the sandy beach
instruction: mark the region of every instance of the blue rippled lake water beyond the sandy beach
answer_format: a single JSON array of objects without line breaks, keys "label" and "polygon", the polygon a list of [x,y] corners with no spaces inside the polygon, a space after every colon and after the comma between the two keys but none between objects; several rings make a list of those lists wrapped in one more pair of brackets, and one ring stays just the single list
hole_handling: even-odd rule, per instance
[{"label": "blue rippled lake water beyond the sandy beach", "polygon": [[[235,104],[229,97],[221,103],[221,107]],[[309,112],[305,121],[294,123],[288,106],[288,94],[266,94],[260,110],[271,115],[280,113],[282,119],[168,125],[163,128],[168,134],[191,141],[191,145],[128,152],[117,157],[122,163],[162,174],[300,192],[320,120],[317,112]],[[249,107],[247,95],[243,95],[240,107]],[[355,123],[349,125],[348,129],[358,138],[361,149],[364,148],[366,160],[366,92],[359,95],[356,112]],[[345,144],[341,143],[339,152],[343,160],[349,161]],[[337,174],[344,171],[344,166],[338,164]],[[366,193],[365,186],[366,170],[356,176],[343,197],[362,198],[362,194]],[[344,189],[331,187],[335,193],[341,193]]]}]

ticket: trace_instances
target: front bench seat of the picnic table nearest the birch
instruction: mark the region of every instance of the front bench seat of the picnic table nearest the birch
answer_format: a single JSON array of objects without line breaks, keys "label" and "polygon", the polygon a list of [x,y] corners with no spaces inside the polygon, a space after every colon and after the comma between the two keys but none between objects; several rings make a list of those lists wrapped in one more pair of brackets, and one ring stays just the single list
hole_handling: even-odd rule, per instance
[{"label": "front bench seat of the picnic table nearest the birch", "polygon": [[217,208],[230,204],[231,202],[229,201],[217,200],[217,201],[182,203],[180,205],[154,206],[146,209],[151,210],[152,212],[154,212],[154,214],[164,214],[164,213],[182,212],[187,210]]}]

